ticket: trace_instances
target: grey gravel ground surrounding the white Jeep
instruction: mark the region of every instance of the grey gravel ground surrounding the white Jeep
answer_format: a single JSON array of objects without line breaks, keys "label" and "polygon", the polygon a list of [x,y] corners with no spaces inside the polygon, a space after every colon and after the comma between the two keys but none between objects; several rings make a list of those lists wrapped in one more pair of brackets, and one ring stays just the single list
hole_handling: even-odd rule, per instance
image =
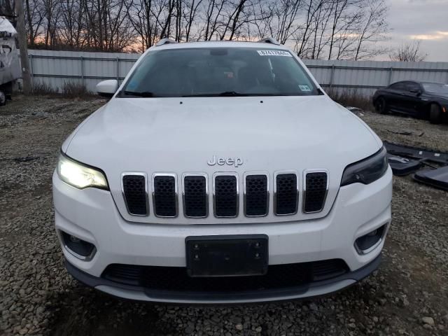
[{"label": "grey gravel ground surrounding the white Jeep", "polygon": [[[173,307],[118,300],[71,279],[53,229],[51,174],[62,141],[102,104],[17,97],[0,109],[0,335],[448,335],[448,194],[409,177],[393,181],[380,269],[333,295]],[[448,125],[359,116],[381,139],[448,152]]]}]

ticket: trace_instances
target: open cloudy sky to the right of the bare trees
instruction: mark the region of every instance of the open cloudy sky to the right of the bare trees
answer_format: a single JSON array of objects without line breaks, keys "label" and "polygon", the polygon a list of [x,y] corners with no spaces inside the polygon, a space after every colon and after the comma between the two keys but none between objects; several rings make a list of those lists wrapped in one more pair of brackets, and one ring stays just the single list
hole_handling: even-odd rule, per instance
[{"label": "open cloudy sky to the right of the bare trees", "polygon": [[[397,48],[402,43],[421,40],[426,61],[448,62],[448,0],[386,0],[391,31],[386,44]],[[388,60],[388,56],[381,57]]]}]

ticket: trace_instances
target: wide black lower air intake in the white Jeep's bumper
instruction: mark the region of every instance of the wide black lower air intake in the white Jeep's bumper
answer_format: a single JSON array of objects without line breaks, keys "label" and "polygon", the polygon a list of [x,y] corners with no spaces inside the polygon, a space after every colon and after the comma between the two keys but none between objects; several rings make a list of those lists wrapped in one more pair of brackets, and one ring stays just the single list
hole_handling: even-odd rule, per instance
[{"label": "wide black lower air intake in the white Jeep's bumper", "polygon": [[340,259],[270,265],[267,274],[257,276],[223,276],[195,278],[188,276],[186,267],[158,267],[113,264],[102,277],[146,290],[191,291],[197,293],[244,292],[305,286],[325,281],[349,271]]}]

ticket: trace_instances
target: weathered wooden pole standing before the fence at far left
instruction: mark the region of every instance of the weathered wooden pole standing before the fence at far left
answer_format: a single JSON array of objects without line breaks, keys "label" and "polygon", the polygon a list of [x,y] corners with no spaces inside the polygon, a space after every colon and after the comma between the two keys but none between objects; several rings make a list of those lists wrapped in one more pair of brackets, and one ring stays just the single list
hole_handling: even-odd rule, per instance
[{"label": "weathered wooden pole standing before the fence at far left", "polygon": [[27,31],[25,29],[25,13],[23,13],[22,0],[15,1],[15,10],[17,10],[17,31],[20,49],[20,62],[22,64],[23,93],[30,94],[33,90],[31,83],[31,73],[29,71],[28,49],[27,49]]}]

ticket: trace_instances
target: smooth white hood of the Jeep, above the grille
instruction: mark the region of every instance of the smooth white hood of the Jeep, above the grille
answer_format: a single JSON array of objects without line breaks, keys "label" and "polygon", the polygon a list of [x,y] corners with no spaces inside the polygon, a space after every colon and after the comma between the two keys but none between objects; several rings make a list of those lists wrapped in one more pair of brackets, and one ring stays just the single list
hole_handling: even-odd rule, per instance
[{"label": "smooth white hood of the Jeep, above the grille", "polygon": [[[111,99],[78,127],[63,150],[103,169],[114,199],[121,195],[123,172],[272,176],[294,169],[301,176],[304,169],[327,169],[328,199],[334,200],[344,167],[380,147],[367,125],[326,96],[198,97]],[[214,157],[243,163],[208,165]]]}]

